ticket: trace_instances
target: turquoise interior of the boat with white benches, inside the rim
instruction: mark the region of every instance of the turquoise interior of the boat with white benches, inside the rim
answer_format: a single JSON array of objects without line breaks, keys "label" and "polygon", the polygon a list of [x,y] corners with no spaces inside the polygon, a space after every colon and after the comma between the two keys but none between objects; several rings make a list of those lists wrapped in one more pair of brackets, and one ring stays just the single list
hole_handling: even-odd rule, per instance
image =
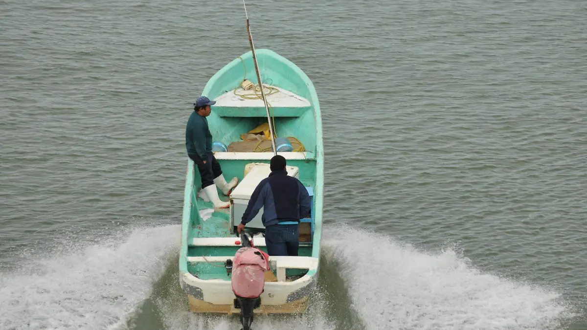
[{"label": "turquoise interior of the boat with white benches, inside the rim", "polygon": [[[268,60],[271,59],[262,60],[259,65],[269,65]],[[243,64],[245,63],[243,62]],[[250,61],[246,66],[254,68]],[[233,70],[238,70],[238,68],[237,65]],[[221,164],[224,177],[227,181],[237,177],[239,184],[242,184],[243,180],[247,180],[245,177],[247,165],[250,168],[254,163],[269,163],[271,157],[274,156],[271,139],[268,138],[270,135],[268,134],[267,111],[261,98],[259,85],[248,86],[249,89],[245,89],[247,81],[256,84],[256,79],[245,79],[244,81],[242,79],[243,76],[245,78],[247,76],[254,77],[254,71],[249,70],[246,75],[243,73],[239,75],[241,79],[235,79],[230,85],[222,82],[222,85],[234,86],[234,89],[219,90],[212,86],[210,95],[217,103],[212,106],[211,115],[208,117],[215,143],[226,147],[225,151],[214,153]],[[297,167],[298,179],[312,198],[311,218],[302,219],[299,226],[299,256],[311,257],[315,207],[313,190],[316,183],[315,113],[306,85],[291,81],[291,77],[295,76],[293,73],[289,75],[290,79],[285,79],[284,76],[288,76],[288,73],[278,74],[270,69],[265,69],[264,92],[274,124],[274,136],[288,139],[293,149],[288,152],[278,152],[278,154],[285,157],[288,166]],[[222,80],[222,77],[218,80]],[[272,83],[271,80],[273,80]],[[212,99],[212,97],[210,98]],[[193,166],[191,161],[190,165]],[[240,241],[235,233],[235,226],[238,225],[240,219],[231,221],[231,210],[229,209],[215,210],[212,208],[212,203],[200,190],[201,179],[197,167],[193,173],[191,231],[188,237],[187,253],[188,271],[203,280],[230,280],[224,267],[225,260],[218,260],[215,257],[234,256],[240,248]],[[220,190],[218,190],[218,196],[223,201],[229,200],[229,197],[224,196]],[[266,251],[262,233],[254,235],[253,241],[256,247]],[[198,261],[198,258],[204,258],[205,262],[190,262],[190,260]],[[266,280],[277,281],[276,269],[273,266],[271,268],[275,276],[271,277],[269,274],[269,278]],[[307,270],[295,269],[295,265],[292,265],[291,269],[287,270],[286,281],[295,280],[306,272]]]}]

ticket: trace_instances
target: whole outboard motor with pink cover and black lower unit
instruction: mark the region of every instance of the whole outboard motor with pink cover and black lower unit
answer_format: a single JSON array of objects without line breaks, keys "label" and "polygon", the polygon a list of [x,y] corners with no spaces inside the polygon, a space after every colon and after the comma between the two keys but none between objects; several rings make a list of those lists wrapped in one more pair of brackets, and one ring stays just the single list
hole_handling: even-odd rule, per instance
[{"label": "whole outboard motor with pink cover and black lower unit", "polygon": [[253,309],[261,306],[269,255],[254,247],[244,231],[241,244],[232,262],[232,292],[236,296],[234,307],[241,309],[241,330],[251,330]]}]

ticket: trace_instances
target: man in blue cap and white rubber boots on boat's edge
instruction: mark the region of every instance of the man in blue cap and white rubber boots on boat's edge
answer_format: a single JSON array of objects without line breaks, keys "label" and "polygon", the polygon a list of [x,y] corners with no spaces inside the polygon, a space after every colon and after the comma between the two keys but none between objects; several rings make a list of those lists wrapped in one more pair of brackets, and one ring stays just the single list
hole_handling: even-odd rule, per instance
[{"label": "man in blue cap and white rubber boots on boat's edge", "polygon": [[211,106],[215,103],[216,101],[205,96],[200,96],[195,101],[194,112],[190,115],[185,127],[185,149],[187,149],[187,156],[198,166],[202,178],[202,189],[214,204],[214,208],[228,208],[230,203],[220,200],[216,187],[229,196],[232,188],[237,186],[238,178],[235,177],[227,183],[222,175],[220,163],[212,153],[212,134],[208,129],[206,117],[210,116]]}]

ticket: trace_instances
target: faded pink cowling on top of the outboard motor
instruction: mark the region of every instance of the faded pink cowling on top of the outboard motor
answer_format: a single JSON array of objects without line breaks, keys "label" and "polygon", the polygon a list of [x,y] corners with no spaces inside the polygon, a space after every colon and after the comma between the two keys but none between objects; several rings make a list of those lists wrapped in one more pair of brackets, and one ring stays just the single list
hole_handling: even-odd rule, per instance
[{"label": "faded pink cowling on top of the outboard motor", "polygon": [[254,247],[239,248],[232,262],[232,292],[242,298],[259,297],[268,270],[268,254]]}]

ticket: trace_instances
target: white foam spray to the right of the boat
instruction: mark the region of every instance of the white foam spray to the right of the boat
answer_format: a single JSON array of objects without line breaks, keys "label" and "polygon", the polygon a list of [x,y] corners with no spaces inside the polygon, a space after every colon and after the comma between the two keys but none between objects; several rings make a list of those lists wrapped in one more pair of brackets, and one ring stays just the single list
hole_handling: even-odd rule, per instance
[{"label": "white foam spray to the right of the boat", "polygon": [[329,227],[323,247],[368,329],[553,329],[572,316],[557,292],[483,274],[453,250],[344,227]]}]

